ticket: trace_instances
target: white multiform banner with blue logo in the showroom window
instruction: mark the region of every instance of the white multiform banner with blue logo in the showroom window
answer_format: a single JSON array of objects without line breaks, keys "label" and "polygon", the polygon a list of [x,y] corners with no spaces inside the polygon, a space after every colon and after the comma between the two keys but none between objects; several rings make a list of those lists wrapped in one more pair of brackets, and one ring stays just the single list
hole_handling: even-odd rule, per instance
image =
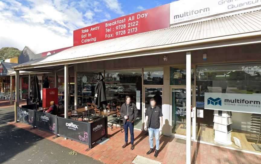
[{"label": "white multiform banner with blue logo in the showroom window", "polygon": [[261,94],[205,93],[205,109],[261,114]]}]

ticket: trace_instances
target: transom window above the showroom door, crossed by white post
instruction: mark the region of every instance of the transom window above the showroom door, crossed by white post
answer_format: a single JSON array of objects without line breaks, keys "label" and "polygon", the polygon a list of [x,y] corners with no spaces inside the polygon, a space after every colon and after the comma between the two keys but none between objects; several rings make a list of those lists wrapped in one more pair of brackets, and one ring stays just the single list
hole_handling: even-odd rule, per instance
[{"label": "transom window above the showroom door, crossed by white post", "polygon": [[[170,67],[170,85],[186,85],[186,66]],[[191,69],[191,84],[194,85],[194,69]]]}]

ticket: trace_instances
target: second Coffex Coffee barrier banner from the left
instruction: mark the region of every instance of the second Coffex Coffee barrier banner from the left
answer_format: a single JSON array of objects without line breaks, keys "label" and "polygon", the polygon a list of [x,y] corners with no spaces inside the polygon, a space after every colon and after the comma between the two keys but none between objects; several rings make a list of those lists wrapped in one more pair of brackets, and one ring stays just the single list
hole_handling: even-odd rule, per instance
[{"label": "second Coffex Coffee barrier banner from the left", "polygon": [[56,125],[55,115],[35,111],[35,127],[55,133]]}]

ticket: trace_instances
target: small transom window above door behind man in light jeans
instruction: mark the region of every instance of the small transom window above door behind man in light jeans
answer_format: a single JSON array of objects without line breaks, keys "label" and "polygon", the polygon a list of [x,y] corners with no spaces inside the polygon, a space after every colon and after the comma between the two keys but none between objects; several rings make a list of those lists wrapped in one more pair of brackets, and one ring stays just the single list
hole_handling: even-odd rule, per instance
[{"label": "small transom window above door behind man in light jeans", "polygon": [[144,85],[163,85],[163,67],[144,68]]}]

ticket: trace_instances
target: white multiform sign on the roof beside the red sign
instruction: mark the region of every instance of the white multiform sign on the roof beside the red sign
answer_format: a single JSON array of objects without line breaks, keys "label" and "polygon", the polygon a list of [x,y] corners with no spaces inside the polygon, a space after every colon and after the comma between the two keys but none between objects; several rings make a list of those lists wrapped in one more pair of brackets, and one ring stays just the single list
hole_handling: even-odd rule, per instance
[{"label": "white multiform sign on the roof beside the red sign", "polygon": [[259,0],[179,0],[170,3],[170,24],[261,5]]}]

